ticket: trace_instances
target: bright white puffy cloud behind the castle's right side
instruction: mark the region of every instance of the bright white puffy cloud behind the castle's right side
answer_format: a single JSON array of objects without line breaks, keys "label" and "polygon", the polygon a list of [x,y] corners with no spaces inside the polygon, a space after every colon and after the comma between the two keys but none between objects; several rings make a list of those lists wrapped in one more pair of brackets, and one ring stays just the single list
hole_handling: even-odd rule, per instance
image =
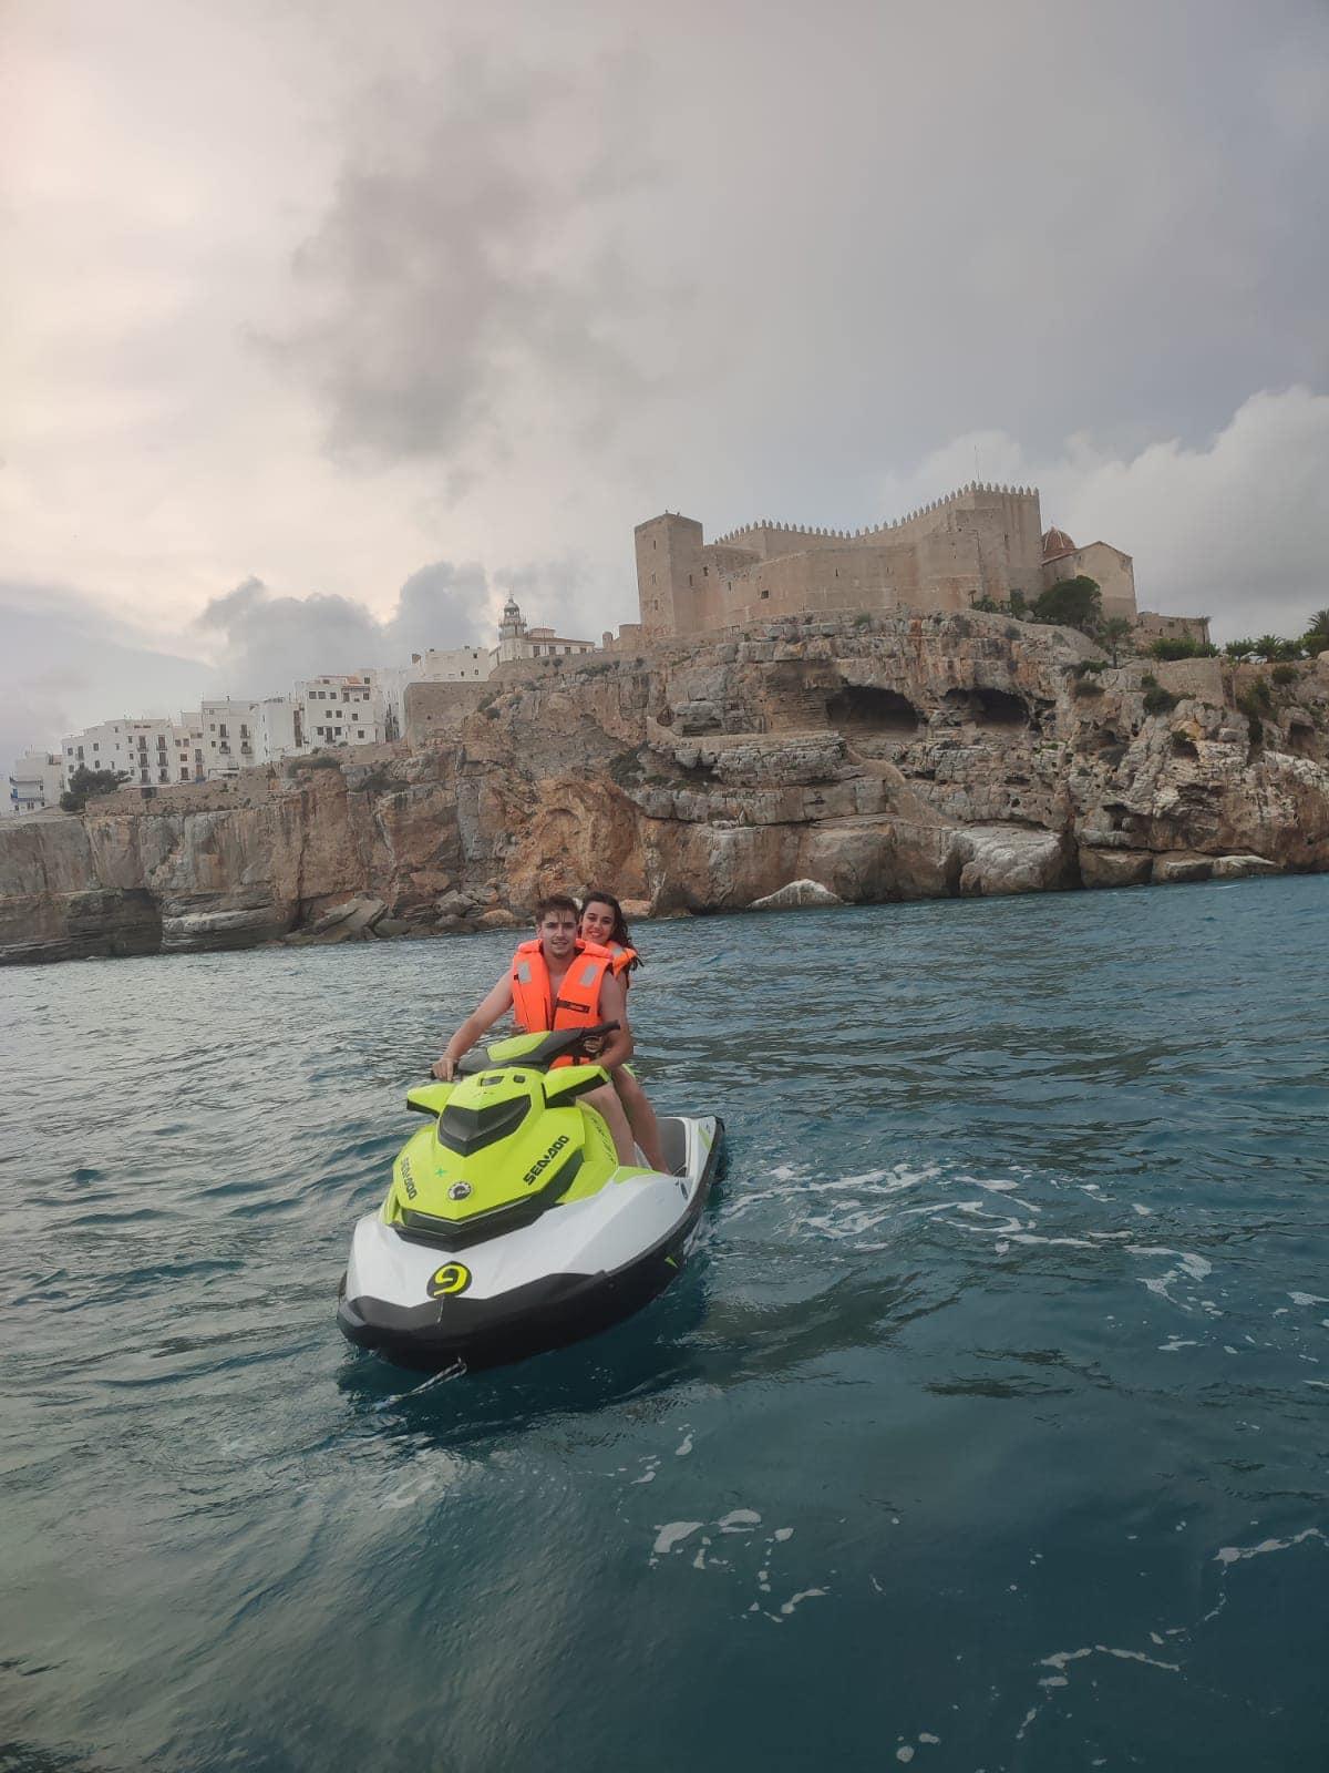
[{"label": "bright white puffy cloud behind the castle's right side", "polygon": [[882,516],[973,479],[1037,486],[1044,527],[1123,548],[1141,608],[1210,615],[1217,638],[1299,635],[1329,603],[1329,395],[1255,394],[1201,443],[1136,452],[1079,434],[1040,456],[1005,431],[968,433],[888,477]]}]

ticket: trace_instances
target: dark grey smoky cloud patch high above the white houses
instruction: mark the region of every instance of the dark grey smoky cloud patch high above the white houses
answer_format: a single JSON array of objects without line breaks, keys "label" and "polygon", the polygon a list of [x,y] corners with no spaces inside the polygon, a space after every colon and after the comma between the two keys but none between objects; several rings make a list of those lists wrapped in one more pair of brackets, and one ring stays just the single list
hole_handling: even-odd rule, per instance
[{"label": "dark grey smoky cloud patch high above the white houses", "polygon": [[539,76],[493,51],[452,60],[422,18],[425,66],[365,99],[294,257],[301,319],[266,342],[317,392],[333,454],[464,473],[501,441],[514,388],[602,422],[631,397],[604,324],[627,300],[606,216],[636,167],[624,142],[606,168],[599,89],[631,66],[611,60]]}]

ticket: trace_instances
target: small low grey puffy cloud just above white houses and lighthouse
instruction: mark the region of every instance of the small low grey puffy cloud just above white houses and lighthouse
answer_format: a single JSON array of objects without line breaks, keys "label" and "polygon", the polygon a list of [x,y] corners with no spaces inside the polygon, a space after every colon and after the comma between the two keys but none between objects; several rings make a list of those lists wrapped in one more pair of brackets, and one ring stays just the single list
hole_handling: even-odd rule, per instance
[{"label": "small low grey puffy cloud just above white houses and lighthouse", "polygon": [[198,628],[222,644],[216,676],[234,695],[285,695],[317,672],[404,665],[427,647],[494,644],[494,594],[484,567],[434,560],[402,585],[381,621],[354,598],[278,596],[246,578],[213,598]]}]

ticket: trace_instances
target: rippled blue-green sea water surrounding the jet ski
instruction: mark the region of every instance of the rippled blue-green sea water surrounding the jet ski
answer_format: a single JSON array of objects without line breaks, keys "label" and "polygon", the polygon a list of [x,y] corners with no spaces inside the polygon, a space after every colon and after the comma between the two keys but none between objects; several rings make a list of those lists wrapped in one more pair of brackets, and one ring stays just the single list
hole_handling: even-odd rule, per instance
[{"label": "rippled blue-green sea water surrounding the jet ski", "polygon": [[473,938],[11,970],[0,1768],[1322,1769],[1329,878],[640,931],[680,1282],[337,1333]]}]

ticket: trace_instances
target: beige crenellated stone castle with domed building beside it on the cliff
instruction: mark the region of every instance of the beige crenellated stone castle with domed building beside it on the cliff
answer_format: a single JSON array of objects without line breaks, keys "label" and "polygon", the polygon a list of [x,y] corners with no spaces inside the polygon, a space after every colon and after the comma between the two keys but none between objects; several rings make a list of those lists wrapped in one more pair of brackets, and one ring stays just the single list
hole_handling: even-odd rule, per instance
[{"label": "beige crenellated stone castle with domed building beside it on the cliff", "polygon": [[1207,617],[1138,608],[1134,564],[1120,548],[1076,548],[1063,530],[1044,532],[1037,488],[975,482],[854,532],[764,518],[707,543],[695,518],[650,518],[636,527],[636,635],[712,635],[810,613],[950,613],[980,601],[1006,605],[1012,592],[1033,601],[1081,573],[1099,583],[1104,617],[1125,617],[1150,635],[1209,638]]}]

